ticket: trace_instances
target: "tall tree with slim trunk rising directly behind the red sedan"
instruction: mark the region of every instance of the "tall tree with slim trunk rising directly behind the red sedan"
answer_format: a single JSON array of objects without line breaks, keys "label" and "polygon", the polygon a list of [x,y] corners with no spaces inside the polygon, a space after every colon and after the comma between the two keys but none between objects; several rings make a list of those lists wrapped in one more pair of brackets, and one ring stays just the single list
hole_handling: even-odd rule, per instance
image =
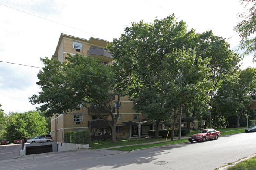
[{"label": "tall tree with slim trunk rising directly behind the red sedan", "polygon": [[225,79],[228,74],[232,71],[238,69],[238,63],[241,60],[241,57],[237,53],[234,53],[230,49],[230,45],[225,41],[223,37],[218,37],[213,35],[212,31],[206,31],[204,33],[199,33],[194,38],[195,44],[193,48],[196,48],[197,56],[202,57],[202,60],[205,58],[211,58],[209,64],[207,65],[210,68],[210,109],[209,109],[209,128],[211,128],[211,112],[213,108],[213,101],[219,84],[221,80]]}]

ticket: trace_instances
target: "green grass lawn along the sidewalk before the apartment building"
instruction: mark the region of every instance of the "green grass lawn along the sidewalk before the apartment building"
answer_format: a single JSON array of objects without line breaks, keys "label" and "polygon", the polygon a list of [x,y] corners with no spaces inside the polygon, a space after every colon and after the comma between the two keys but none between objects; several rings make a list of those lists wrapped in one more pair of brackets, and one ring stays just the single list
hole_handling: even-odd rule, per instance
[{"label": "green grass lawn along the sidewalk before the apartment building", "polygon": [[[239,132],[244,132],[245,127],[242,128],[224,128],[224,129],[216,129],[221,132],[221,135],[228,135],[232,133],[239,133]],[[225,131],[230,131],[230,132],[225,132]],[[187,134],[186,136],[193,135],[197,131],[191,131],[191,133]],[[132,151],[135,149],[142,149],[142,148],[151,148],[154,146],[163,146],[167,144],[174,144],[174,143],[182,143],[182,142],[187,142],[186,139],[182,140],[174,140],[170,141],[170,138],[167,139],[167,142],[161,142],[157,143],[158,141],[165,141],[165,138],[140,138],[140,139],[117,139],[117,143],[113,144],[111,143],[111,140],[107,141],[93,141],[90,144],[91,149],[101,149],[101,148],[110,148],[110,147],[116,147],[116,146],[121,146],[118,148],[113,148],[113,150],[122,150],[122,151]],[[143,144],[143,143],[151,143],[151,142],[156,142],[153,144]],[[136,145],[139,144],[139,145]],[[128,146],[128,145],[134,145],[134,146]]]}]

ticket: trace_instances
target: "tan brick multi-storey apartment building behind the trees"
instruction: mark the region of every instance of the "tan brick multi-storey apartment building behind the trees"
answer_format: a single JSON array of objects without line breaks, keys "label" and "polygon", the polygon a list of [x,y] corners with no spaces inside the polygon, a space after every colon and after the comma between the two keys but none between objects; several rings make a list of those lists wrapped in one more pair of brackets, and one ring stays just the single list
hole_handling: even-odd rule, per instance
[{"label": "tan brick multi-storey apartment building behind the trees", "polygon": [[[64,61],[67,53],[75,55],[76,53],[85,57],[92,56],[99,58],[103,64],[112,64],[113,57],[106,48],[110,42],[98,38],[89,40],[70,35],[61,34],[58,45],[52,59]],[[117,113],[117,96],[113,99],[112,106]],[[141,137],[148,134],[148,130],[155,129],[155,122],[147,122],[147,116],[141,113],[135,113],[134,103],[127,96],[121,98],[119,106],[119,117],[117,120],[116,136],[117,138]],[[106,111],[100,112],[104,117],[111,120],[111,116]],[[186,123],[182,124],[186,126]],[[160,129],[164,129],[160,125]],[[55,141],[63,142],[65,132],[80,132],[89,130],[94,140],[111,139],[111,128],[109,124],[100,117],[88,111],[85,107],[78,107],[76,111],[54,115],[51,118],[51,133]]]}]

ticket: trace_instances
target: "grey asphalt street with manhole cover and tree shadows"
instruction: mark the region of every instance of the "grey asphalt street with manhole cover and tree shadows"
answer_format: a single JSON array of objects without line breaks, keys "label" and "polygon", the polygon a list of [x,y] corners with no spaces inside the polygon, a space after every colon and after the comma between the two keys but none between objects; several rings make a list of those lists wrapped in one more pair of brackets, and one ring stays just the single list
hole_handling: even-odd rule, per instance
[{"label": "grey asphalt street with manhole cover and tree shadows", "polygon": [[214,170],[256,153],[256,133],[180,143],[133,152],[76,150],[0,161],[0,170]]}]

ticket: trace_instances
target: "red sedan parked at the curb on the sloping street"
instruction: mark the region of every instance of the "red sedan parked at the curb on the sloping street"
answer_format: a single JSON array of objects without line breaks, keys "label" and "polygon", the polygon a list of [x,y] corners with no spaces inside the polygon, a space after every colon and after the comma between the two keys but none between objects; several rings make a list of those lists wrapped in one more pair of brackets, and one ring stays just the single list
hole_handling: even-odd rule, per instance
[{"label": "red sedan parked at the curb on the sloping street", "polygon": [[190,142],[194,142],[194,141],[204,142],[207,139],[217,140],[220,135],[221,135],[221,133],[219,131],[215,130],[215,129],[203,129],[203,130],[199,130],[194,135],[189,136],[188,140]]}]

